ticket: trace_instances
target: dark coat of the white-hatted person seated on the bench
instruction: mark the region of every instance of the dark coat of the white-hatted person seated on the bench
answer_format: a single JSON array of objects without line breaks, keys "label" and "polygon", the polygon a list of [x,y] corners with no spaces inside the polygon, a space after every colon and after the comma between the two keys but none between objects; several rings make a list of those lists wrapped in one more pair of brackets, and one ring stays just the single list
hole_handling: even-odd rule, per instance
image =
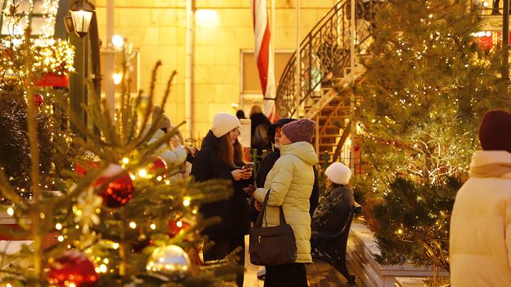
[{"label": "dark coat of the white-hatted person seated on the bench", "polygon": [[312,231],[339,232],[353,208],[353,189],[339,185],[326,191],[312,217]]}]

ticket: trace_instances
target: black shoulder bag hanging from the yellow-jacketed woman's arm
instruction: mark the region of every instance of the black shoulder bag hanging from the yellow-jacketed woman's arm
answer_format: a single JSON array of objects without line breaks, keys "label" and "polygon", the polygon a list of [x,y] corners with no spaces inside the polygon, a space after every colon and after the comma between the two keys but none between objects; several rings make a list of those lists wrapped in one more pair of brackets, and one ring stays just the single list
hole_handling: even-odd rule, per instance
[{"label": "black shoulder bag hanging from the yellow-jacketed woman's arm", "polygon": [[297,257],[295,235],[291,225],[285,221],[282,206],[279,206],[280,225],[263,227],[263,217],[269,197],[270,190],[266,193],[258,218],[250,231],[248,251],[251,263],[262,266],[294,263]]}]

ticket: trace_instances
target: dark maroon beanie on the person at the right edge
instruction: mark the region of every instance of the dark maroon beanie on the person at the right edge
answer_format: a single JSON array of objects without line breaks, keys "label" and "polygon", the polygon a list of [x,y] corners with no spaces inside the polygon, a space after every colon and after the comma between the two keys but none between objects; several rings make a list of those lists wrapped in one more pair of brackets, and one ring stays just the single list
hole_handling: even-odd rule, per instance
[{"label": "dark maroon beanie on the person at the right edge", "polygon": [[487,111],[479,126],[479,142],[483,150],[511,152],[511,113]]}]

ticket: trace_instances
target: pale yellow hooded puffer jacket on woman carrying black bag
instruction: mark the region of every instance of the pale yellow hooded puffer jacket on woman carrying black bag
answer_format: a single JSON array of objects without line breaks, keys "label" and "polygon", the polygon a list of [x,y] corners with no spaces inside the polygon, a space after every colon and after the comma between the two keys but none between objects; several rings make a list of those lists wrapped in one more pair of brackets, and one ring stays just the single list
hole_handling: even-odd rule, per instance
[{"label": "pale yellow hooded puffer jacket on woman carrying black bag", "polygon": [[312,166],[317,163],[316,152],[309,142],[283,145],[280,147],[280,158],[266,177],[264,188],[258,188],[254,193],[255,199],[262,203],[270,190],[263,220],[265,227],[280,224],[278,207],[282,206],[285,220],[295,234],[297,263],[312,262],[309,198],[314,185]]}]

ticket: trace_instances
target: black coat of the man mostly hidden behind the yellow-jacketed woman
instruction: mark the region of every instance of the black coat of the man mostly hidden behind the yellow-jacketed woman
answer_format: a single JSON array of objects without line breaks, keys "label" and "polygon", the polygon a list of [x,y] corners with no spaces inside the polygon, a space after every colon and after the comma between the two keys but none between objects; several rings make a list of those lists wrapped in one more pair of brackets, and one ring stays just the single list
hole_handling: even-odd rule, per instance
[{"label": "black coat of the man mostly hidden behind the yellow-jacketed woman", "polygon": [[[266,156],[263,158],[263,160],[260,163],[259,171],[255,175],[255,184],[257,185],[257,187],[264,187],[266,176],[268,176],[270,170],[273,169],[273,166],[275,165],[275,162],[277,162],[277,159],[279,159],[279,157],[280,150],[275,149],[273,152],[266,154]],[[319,202],[319,185],[317,179],[317,169],[316,167],[312,168],[314,169],[314,187],[312,188],[311,197],[309,198],[310,203],[309,213],[311,215],[311,218]],[[257,215],[259,214],[259,211],[255,209],[254,204],[255,200],[251,198],[250,215],[252,221],[255,221]]]}]

